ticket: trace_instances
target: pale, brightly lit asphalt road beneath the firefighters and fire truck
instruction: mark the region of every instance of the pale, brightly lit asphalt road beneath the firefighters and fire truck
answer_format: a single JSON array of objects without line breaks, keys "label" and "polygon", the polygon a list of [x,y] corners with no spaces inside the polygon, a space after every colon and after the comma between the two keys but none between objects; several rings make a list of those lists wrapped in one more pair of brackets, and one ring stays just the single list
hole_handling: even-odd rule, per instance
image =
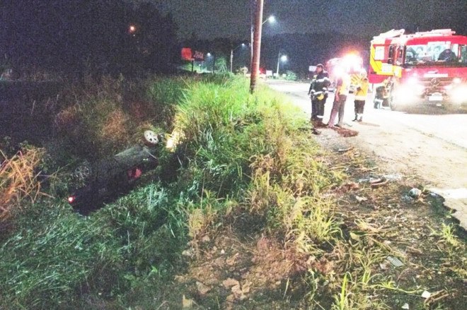
[{"label": "pale, brightly lit asphalt road beneath the firefighters and fire truck", "polygon": [[[271,88],[287,95],[291,102],[311,115],[308,83],[269,80]],[[334,96],[325,105],[327,123]],[[467,114],[440,107],[420,107],[410,112],[374,109],[370,93],[362,123],[355,123],[353,96],[347,98],[345,126],[358,131],[347,143],[373,153],[388,173],[425,181],[425,186],[442,195],[448,208],[467,229]],[[323,129],[323,134],[330,129]]]}]

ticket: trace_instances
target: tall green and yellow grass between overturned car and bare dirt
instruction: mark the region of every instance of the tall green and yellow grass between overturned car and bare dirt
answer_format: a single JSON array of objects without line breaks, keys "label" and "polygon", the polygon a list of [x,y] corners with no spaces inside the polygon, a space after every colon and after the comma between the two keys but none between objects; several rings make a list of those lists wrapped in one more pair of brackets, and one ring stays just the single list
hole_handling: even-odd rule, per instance
[{"label": "tall green and yellow grass between overturned car and bare dirt", "polygon": [[[1,247],[0,306],[86,309],[90,296],[124,306],[179,270],[188,242],[196,248],[239,210],[265,217],[266,233],[305,254],[339,233],[332,202],[320,193],[340,176],[300,131],[306,120],[276,93],[260,87],[250,95],[244,79],[229,76],[154,78],[144,84],[146,103],[171,123],[154,114],[142,124],[127,109],[122,81],[106,83],[59,115],[64,130],[73,124],[69,138],[104,156],[134,143],[142,126],[174,130],[181,167],[170,181],[149,180],[88,218],[35,201]],[[158,171],[173,169],[170,162],[161,160]]]}]

